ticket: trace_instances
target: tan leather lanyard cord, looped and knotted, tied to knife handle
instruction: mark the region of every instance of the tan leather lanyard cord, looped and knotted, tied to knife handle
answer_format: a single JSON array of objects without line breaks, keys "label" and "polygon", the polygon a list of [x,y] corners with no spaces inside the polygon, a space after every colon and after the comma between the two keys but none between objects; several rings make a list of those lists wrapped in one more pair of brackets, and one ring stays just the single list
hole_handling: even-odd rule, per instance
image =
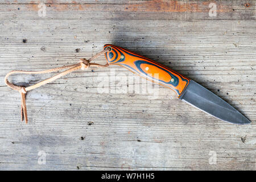
[{"label": "tan leather lanyard cord, looped and knotted, tied to knife handle", "polygon": [[[82,70],[88,69],[91,65],[94,66],[94,67],[108,67],[109,66],[108,63],[102,65],[102,64],[97,64],[97,63],[90,63],[90,61],[96,59],[96,57],[98,57],[98,56],[100,56],[100,55],[102,55],[105,52],[108,52],[110,50],[111,50],[110,48],[106,48],[103,51],[101,51],[101,52],[97,53],[96,55],[94,55],[93,57],[91,57],[89,60],[81,59],[80,63],[77,63],[77,64],[72,64],[72,65],[67,65],[67,66],[63,66],[63,67],[47,69],[47,70],[44,70],[44,71],[14,70],[14,71],[11,71],[11,72],[7,73],[6,76],[5,76],[5,84],[7,86],[9,86],[11,89],[18,90],[20,95],[21,95],[21,109],[20,109],[21,110],[21,120],[23,121],[23,118],[25,118],[26,123],[28,121],[28,119],[27,119],[27,106],[26,106],[26,101],[25,101],[27,91],[38,88],[39,86],[48,84],[48,82],[54,81],[57,78],[60,78],[61,76],[64,76],[64,75],[67,75],[68,73],[76,71],[77,69],[80,69],[80,68]],[[64,71],[64,72],[57,73],[57,75],[55,75],[55,76],[47,78],[46,80],[40,81],[37,84],[31,85],[31,86],[28,86],[28,87],[14,85],[13,83],[9,82],[8,79],[7,79],[10,75],[13,75],[14,73],[43,74],[43,73],[56,72],[56,71],[59,71],[61,69],[67,69],[67,70]]]}]

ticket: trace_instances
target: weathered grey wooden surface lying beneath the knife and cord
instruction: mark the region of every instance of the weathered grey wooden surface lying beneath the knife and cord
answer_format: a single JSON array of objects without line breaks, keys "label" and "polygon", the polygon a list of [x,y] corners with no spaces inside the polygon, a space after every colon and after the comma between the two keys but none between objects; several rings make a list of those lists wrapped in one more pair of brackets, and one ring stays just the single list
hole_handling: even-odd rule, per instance
[{"label": "weathered grey wooden surface lying beneath the knife and cord", "polygon": [[[40,1],[0,2],[0,169],[256,169],[255,1],[214,2],[216,16],[209,16],[209,1],[41,2],[42,17]],[[105,43],[183,73],[251,124],[219,121],[162,86],[156,99],[101,93],[110,71],[119,80],[109,88],[127,85],[129,71],[121,67],[73,72],[28,92],[28,125],[20,122],[20,96],[5,85],[7,72],[74,64]],[[10,80],[27,86],[49,76]]]}]

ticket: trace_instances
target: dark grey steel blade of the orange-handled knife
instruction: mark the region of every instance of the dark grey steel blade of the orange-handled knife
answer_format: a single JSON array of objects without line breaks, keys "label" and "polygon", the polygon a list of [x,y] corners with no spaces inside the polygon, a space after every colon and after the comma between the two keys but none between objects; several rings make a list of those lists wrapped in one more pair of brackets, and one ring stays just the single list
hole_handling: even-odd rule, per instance
[{"label": "dark grey steel blade of the orange-handled knife", "polygon": [[193,80],[189,81],[180,99],[222,121],[239,125],[250,123],[250,120],[234,107]]}]

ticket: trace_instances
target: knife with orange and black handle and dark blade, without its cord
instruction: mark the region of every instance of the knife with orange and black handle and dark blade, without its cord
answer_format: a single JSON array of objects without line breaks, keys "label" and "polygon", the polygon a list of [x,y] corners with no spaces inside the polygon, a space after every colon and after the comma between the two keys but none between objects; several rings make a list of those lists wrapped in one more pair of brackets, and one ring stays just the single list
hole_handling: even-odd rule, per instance
[{"label": "knife with orange and black handle and dark blade, without its cord", "polygon": [[120,65],[147,80],[166,86],[174,90],[181,101],[222,121],[239,125],[250,123],[249,119],[222,98],[180,73],[125,48],[105,44],[104,49],[107,48],[110,51],[105,53],[105,57],[110,65]]}]

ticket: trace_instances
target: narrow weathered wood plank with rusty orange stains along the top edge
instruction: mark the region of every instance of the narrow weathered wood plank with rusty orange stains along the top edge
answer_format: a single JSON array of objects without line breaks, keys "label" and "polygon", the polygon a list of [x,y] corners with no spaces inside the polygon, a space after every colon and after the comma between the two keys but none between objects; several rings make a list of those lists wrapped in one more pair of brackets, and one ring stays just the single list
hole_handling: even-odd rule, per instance
[{"label": "narrow weathered wood plank with rusty orange stains along the top edge", "polygon": [[[2,3],[1,19],[255,19],[255,1],[47,1],[46,16],[38,16],[40,1]],[[212,3],[212,4],[211,4]],[[209,15],[209,11],[216,15]],[[212,14],[212,13],[210,13]]]}]

